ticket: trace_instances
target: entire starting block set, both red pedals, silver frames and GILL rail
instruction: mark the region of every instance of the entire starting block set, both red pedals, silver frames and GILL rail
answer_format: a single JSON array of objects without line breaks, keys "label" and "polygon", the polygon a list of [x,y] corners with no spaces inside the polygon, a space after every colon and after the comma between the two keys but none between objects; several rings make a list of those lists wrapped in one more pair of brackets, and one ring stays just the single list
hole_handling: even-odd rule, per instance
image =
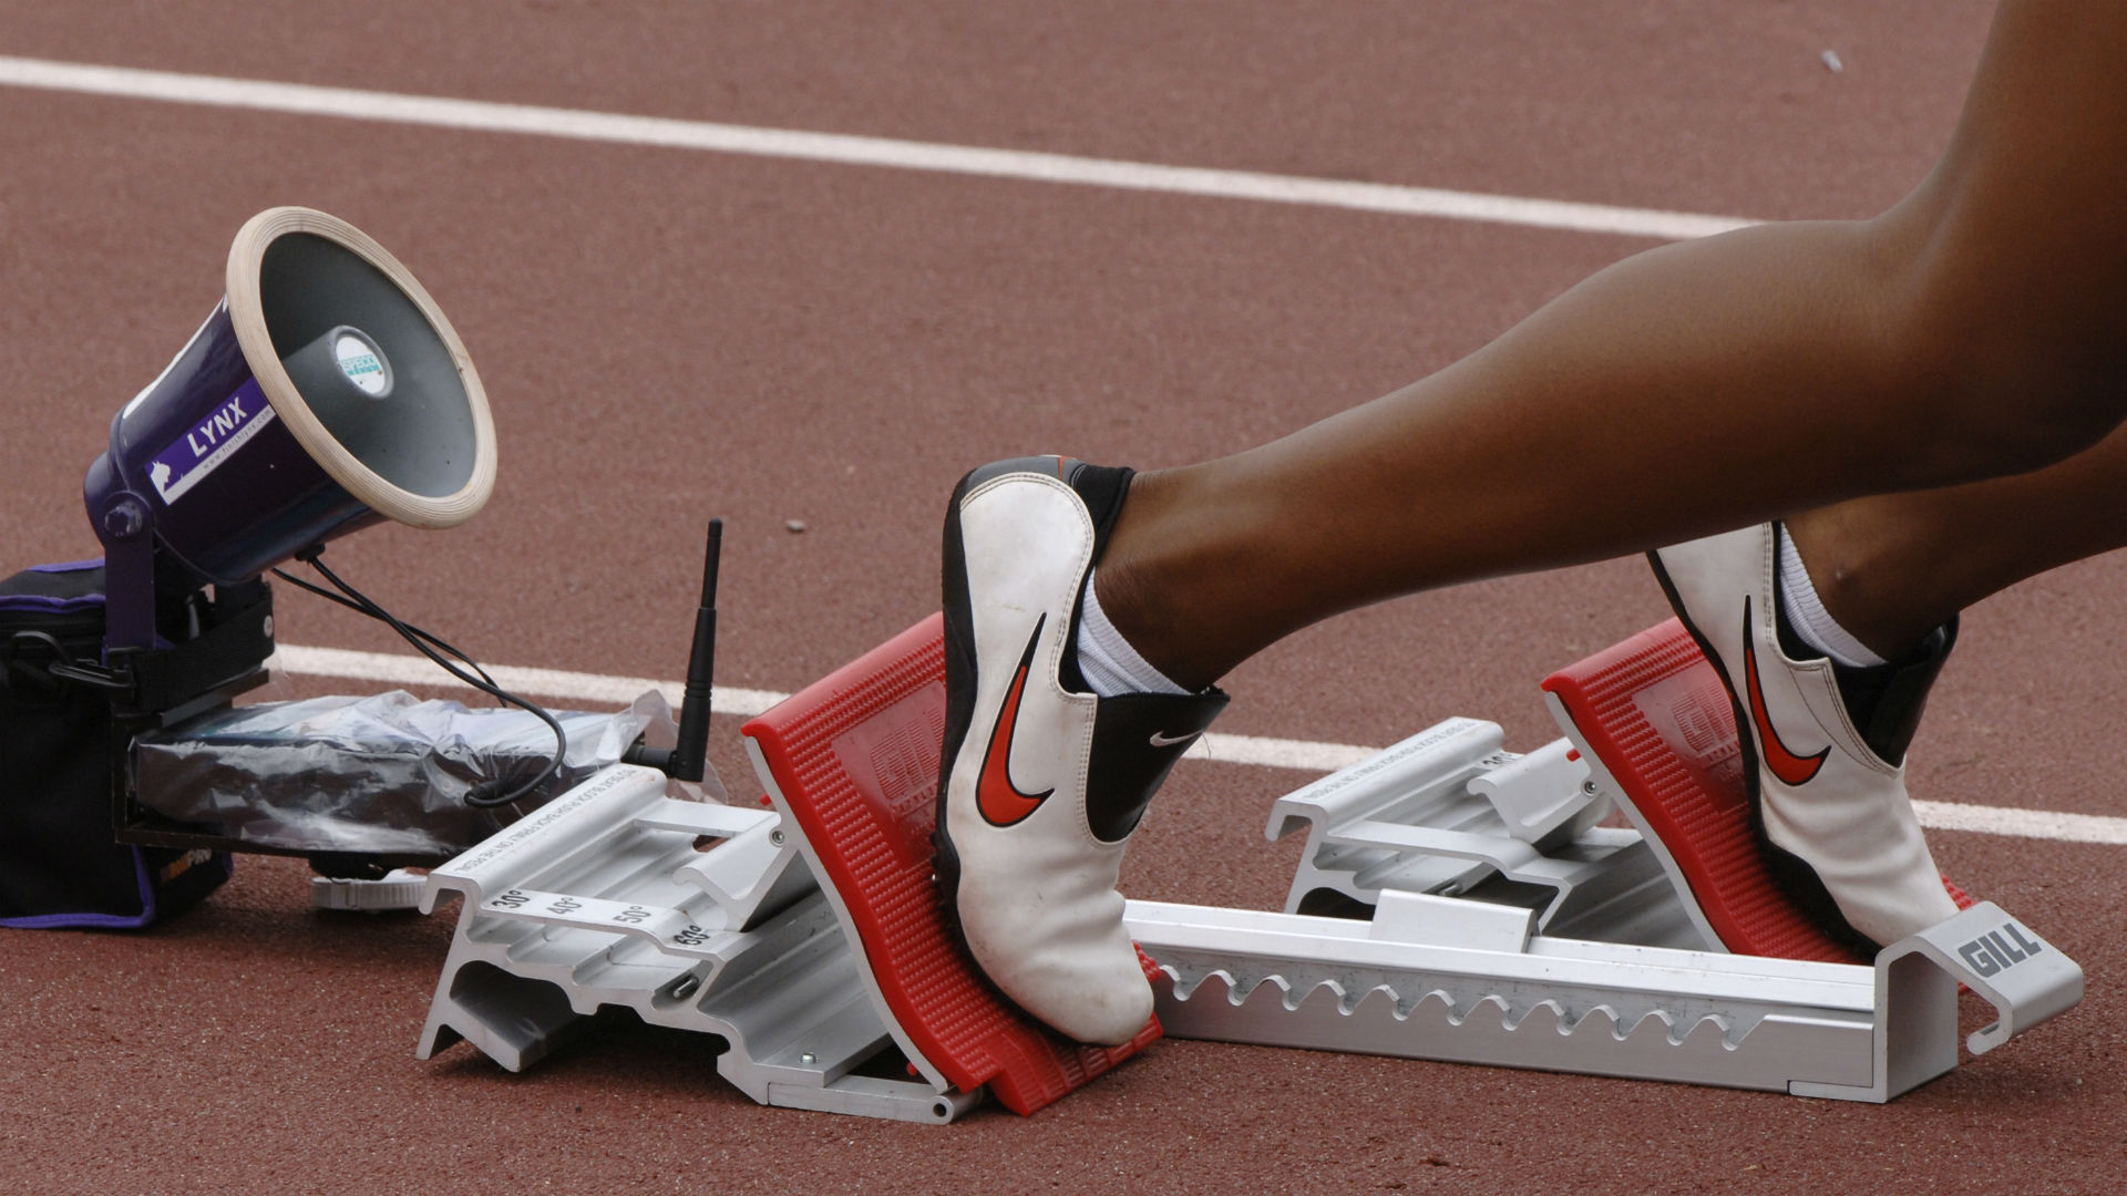
[{"label": "entire starting block set, both red pedals, silver frames and GILL rail", "polygon": [[1280,798],[1270,838],[1308,836],[1285,911],[1127,902],[1157,1017],[1081,1047],[947,930],[942,677],[932,617],[749,721],[772,809],[615,766],[436,868],[423,909],[464,909],[421,1058],[466,1039],[519,1070],[621,1004],[721,1036],[753,1100],[912,1122],[1032,1113],[1161,1034],[1882,1102],[1957,1066],[1959,983],[1997,1011],[1972,1053],[2082,998],[1991,902],[1874,960],[1816,934],[1672,621],[1544,681],[1565,736],[1536,751],[1448,719]]}]

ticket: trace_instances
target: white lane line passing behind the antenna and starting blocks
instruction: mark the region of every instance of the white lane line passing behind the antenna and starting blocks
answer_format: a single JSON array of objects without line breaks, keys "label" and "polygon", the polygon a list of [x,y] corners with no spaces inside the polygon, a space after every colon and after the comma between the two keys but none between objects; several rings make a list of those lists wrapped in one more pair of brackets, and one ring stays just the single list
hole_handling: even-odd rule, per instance
[{"label": "white lane line passing behind the antenna and starting blocks", "polygon": [[[281,645],[270,664],[304,677],[462,687],[455,679],[419,655]],[[562,668],[517,668],[508,664],[491,664],[487,670],[502,683],[504,690],[517,690],[525,696],[608,702],[615,707],[632,702],[644,690],[661,690],[668,702],[679,704],[679,696],[685,690],[679,681],[604,677],[598,672],[568,672]],[[787,696],[789,694],[778,694],[774,690],[734,690],[717,685],[713,704],[717,713],[751,717],[768,707],[774,707]],[[1210,732],[1189,749],[1189,758],[1215,760],[1221,764],[1293,768],[1302,773],[1334,773],[1346,764],[1366,760],[1374,751],[1378,749],[1359,747],[1355,743],[1314,743],[1306,738]],[[1936,830],[1970,830],[1976,834],[2050,838],[2059,843],[2127,845],[2127,817],[1974,807],[1963,802],[1912,802],[1912,809],[1921,815],[1921,826]]]}]

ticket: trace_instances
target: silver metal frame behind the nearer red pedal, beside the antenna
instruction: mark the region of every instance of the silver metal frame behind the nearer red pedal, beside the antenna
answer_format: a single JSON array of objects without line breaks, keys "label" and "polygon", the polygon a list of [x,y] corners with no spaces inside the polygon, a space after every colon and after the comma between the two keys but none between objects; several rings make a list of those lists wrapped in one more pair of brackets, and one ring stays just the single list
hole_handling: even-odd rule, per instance
[{"label": "silver metal frame behind the nearer red pedal, beside the antenna", "polygon": [[421,909],[449,896],[464,909],[423,1060],[470,1041],[523,1070],[625,1007],[723,1039],[717,1073],[761,1104],[902,1122],[974,1104],[866,1073],[889,1030],[776,813],[670,798],[621,764],[430,873]]}]

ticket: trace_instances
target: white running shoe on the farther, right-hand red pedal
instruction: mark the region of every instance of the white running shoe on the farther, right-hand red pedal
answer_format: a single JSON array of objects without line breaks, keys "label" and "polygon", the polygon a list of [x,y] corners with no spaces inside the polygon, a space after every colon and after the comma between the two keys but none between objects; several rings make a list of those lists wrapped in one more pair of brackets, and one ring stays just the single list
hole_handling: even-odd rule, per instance
[{"label": "white running shoe on the farther, right-hand red pedal", "polygon": [[1808,658],[1791,632],[1782,647],[1774,524],[1648,560],[1736,702],[1755,821],[1789,896],[1827,930],[1876,947],[1955,915],[1904,768],[1955,619],[1908,660],[1848,670]]}]

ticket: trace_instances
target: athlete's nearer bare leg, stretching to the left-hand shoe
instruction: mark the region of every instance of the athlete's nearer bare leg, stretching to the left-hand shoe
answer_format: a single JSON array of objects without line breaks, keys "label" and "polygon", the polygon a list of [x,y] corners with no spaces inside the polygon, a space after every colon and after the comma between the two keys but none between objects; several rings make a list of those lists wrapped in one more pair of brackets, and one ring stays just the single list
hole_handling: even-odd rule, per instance
[{"label": "athlete's nearer bare leg, stretching to the left-hand shoe", "polygon": [[[1948,151],[1895,209],[1629,258],[1406,389],[1140,475],[1100,564],[1104,609],[1202,685],[1363,602],[1870,494],[1957,487],[1795,519],[1865,643],[1914,615],[1891,589],[1844,594],[1840,577],[1893,572],[1816,564],[1833,551],[1816,545],[1878,543],[1870,519],[2002,530],[1993,549],[1959,536],[1970,568],[1914,602],[1921,619],[2112,547],[2127,458],[2110,445],[1959,485],[2074,458],[2127,415],[2121,62],[2127,6],[2006,4]],[[2036,526],[2046,545],[2010,543]]]}]

